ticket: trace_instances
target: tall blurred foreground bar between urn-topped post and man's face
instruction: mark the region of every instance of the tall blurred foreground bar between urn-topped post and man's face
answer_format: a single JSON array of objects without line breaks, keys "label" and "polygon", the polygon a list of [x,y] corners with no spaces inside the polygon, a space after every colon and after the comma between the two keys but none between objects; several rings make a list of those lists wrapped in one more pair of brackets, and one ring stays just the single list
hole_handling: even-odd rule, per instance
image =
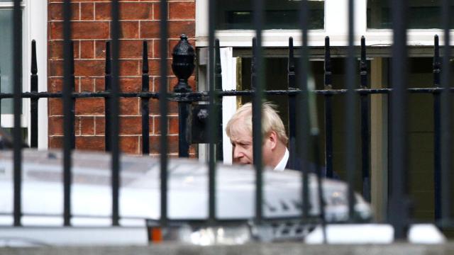
[{"label": "tall blurred foreground bar between urn-topped post and man's face", "polygon": [[[215,158],[215,145],[218,128],[216,127],[216,94],[215,94],[215,84],[214,84],[214,15],[216,11],[216,1],[209,1],[209,21],[208,21],[208,79],[209,79],[209,222],[214,222],[216,219],[216,194],[215,194],[215,178],[216,178],[216,158]],[[216,148],[217,149],[217,148]]]}]

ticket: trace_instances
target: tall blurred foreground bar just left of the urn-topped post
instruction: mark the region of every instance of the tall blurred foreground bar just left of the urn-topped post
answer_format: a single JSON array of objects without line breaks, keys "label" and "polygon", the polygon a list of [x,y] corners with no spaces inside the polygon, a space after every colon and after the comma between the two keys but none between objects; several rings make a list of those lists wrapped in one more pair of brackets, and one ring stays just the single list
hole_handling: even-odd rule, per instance
[{"label": "tall blurred foreground bar just left of the urn-topped post", "polygon": [[[160,0],[160,223],[167,225],[167,1]],[[179,116],[181,118],[181,116]],[[179,133],[179,135],[182,135]]]}]

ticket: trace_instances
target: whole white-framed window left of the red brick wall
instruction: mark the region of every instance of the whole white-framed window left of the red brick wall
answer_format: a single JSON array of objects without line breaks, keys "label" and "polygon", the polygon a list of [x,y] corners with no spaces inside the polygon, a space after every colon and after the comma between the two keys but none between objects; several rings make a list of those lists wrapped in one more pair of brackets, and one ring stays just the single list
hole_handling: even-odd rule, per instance
[{"label": "whole white-framed window left of the red brick wall", "polygon": [[[46,0],[23,0],[22,1],[22,52],[23,68],[22,81],[23,91],[30,90],[30,67],[31,67],[31,41],[36,40],[38,52],[38,91],[47,91],[47,1]],[[32,11],[33,10],[33,11]],[[0,86],[1,92],[13,91],[13,1],[0,0]],[[28,132],[29,100],[23,100],[23,114],[21,124],[23,134]],[[38,120],[38,147],[47,147],[47,100],[39,101]],[[1,125],[4,128],[13,127],[13,100],[1,100]],[[28,137],[29,139],[29,137]]]}]

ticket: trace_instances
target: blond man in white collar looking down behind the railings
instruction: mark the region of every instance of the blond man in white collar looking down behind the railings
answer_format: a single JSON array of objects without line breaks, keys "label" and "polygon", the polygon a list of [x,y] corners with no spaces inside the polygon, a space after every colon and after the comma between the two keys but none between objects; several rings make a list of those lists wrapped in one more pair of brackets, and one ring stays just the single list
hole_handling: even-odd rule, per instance
[{"label": "blond man in white collar looking down behind the railings", "polygon": [[[253,164],[253,107],[245,103],[238,108],[226,126],[233,146],[233,162]],[[271,103],[262,103],[262,159],[265,166],[282,171],[289,160],[284,123]]]}]

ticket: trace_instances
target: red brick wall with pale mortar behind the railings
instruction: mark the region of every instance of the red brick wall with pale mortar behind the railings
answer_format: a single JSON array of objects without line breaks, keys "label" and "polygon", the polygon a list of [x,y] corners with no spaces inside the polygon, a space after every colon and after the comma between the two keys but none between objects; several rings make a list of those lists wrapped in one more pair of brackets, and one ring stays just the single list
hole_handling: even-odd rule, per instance
[{"label": "red brick wall with pale mortar behind the railings", "polygon": [[[72,39],[74,40],[75,91],[104,90],[105,42],[110,39],[110,0],[72,0]],[[148,41],[150,91],[159,91],[159,1],[121,1],[120,89],[140,91],[143,40]],[[169,55],[179,35],[185,33],[194,45],[195,0],[170,0]],[[48,1],[48,90],[62,91],[62,0]],[[169,65],[172,90],[176,84]],[[195,86],[194,77],[189,82]],[[159,152],[158,101],[150,101],[150,152]],[[177,104],[169,104],[170,154],[178,152]],[[76,148],[104,149],[104,99],[80,98],[75,106]],[[49,99],[49,147],[62,147],[62,101]],[[140,153],[140,99],[120,99],[120,146],[123,152]],[[192,148],[194,154],[194,148]]]}]

